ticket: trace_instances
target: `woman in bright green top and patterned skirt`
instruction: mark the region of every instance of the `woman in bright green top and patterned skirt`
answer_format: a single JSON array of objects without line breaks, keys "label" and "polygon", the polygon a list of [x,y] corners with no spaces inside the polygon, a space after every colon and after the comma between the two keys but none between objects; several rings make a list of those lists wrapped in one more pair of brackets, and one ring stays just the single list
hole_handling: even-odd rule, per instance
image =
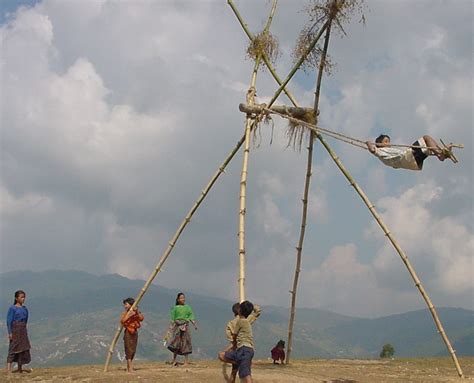
[{"label": "woman in bright green top and patterned skirt", "polygon": [[188,364],[188,355],[193,352],[189,322],[197,330],[194,321],[194,313],[191,306],[186,304],[186,297],[179,293],[176,297],[176,305],[171,309],[172,337],[168,344],[168,350],[173,353],[173,366],[177,366],[176,356],[184,355],[184,365]]}]

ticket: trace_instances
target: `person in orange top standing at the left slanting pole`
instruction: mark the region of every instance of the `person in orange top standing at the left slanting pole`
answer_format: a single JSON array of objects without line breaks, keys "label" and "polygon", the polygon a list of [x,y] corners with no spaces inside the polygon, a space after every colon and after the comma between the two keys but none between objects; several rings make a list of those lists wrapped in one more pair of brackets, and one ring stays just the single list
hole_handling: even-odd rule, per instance
[{"label": "person in orange top standing at the left slanting pole", "polygon": [[130,310],[135,303],[135,299],[127,298],[123,300],[123,307],[125,311],[120,316],[120,323],[125,327],[123,335],[123,344],[125,346],[125,358],[127,359],[127,371],[132,372],[132,361],[137,351],[138,344],[138,329],[145,317],[138,311],[138,307]]}]

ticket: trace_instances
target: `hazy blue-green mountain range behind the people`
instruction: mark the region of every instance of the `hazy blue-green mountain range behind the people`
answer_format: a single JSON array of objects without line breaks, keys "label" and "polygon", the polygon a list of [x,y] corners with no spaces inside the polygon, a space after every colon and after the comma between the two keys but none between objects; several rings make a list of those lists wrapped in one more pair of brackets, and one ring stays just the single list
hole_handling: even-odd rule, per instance
[{"label": "hazy blue-green mountain range behind the people", "polygon": [[[103,363],[117,328],[122,299],[134,296],[144,282],[119,275],[96,276],[78,271],[9,272],[0,274],[0,344],[6,356],[5,316],[13,292],[27,293],[29,334],[36,365]],[[193,358],[214,358],[225,346],[224,328],[232,318],[231,301],[185,292],[198,318],[193,332]],[[140,330],[138,360],[165,360],[169,352],[162,338],[176,291],[152,285],[140,306],[145,321]],[[254,325],[256,358],[266,358],[279,339],[286,339],[288,309],[262,306]],[[446,332],[458,355],[474,355],[474,311],[438,308]],[[395,356],[448,355],[428,310],[361,319],[318,309],[298,309],[293,356],[295,358],[377,358],[391,343]],[[120,340],[116,361],[123,358]]]}]

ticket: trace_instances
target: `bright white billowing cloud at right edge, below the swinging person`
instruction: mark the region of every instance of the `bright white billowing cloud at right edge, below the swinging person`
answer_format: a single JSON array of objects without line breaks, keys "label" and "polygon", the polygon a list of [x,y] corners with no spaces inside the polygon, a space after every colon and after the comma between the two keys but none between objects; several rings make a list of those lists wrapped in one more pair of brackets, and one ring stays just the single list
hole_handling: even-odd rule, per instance
[{"label": "bright white billowing cloud at right edge, below the swinging person", "polygon": [[[420,184],[399,197],[383,198],[378,205],[409,260],[420,266],[422,282],[426,280],[435,291],[471,292],[474,234],[455,218],[437,217],[430,211],[430,204],[442,194],[443,189],[434,183]],[[371,232],[376,230],[374,224]],[[374,264],[381,278],[393,272],[394,263],[398,261],[394,253],[388,244],[379,251]]]}]

